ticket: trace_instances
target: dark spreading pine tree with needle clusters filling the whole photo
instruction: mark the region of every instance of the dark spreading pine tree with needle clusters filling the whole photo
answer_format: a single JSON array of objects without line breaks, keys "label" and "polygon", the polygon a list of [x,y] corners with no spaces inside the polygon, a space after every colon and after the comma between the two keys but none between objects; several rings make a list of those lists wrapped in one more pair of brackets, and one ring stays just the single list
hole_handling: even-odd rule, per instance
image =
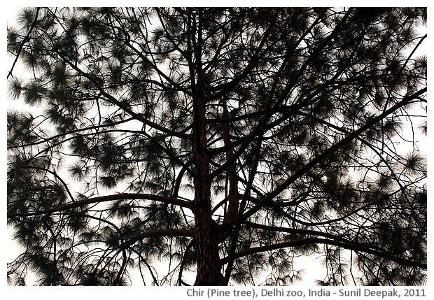
[{"label": "dark spreading pine tree with needle clusters filling the whole photo", "polygon": [[290,285],[307,256],[318,285],[425,284],[425,8],[25,8],[16,23],[10,284]]}]

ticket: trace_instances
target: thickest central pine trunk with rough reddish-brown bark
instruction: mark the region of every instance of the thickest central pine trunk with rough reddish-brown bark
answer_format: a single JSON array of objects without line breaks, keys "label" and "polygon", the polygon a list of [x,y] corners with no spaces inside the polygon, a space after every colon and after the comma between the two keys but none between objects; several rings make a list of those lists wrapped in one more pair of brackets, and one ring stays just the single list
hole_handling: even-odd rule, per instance
[{"label": "thickest central pine trunk with rough reddish-brown bark", "polygon": [[[196,20],[197,17],[197,20]],[[211,213],[211,178],[207,151],[207,99],[204,97],[205,74],[202,69],[202,16],[190,15],[188,52],[193,98],[193,160],[195,163],[195,238],[197,246],[197,276],[195,285],[221,285],[218,232]]]}]

